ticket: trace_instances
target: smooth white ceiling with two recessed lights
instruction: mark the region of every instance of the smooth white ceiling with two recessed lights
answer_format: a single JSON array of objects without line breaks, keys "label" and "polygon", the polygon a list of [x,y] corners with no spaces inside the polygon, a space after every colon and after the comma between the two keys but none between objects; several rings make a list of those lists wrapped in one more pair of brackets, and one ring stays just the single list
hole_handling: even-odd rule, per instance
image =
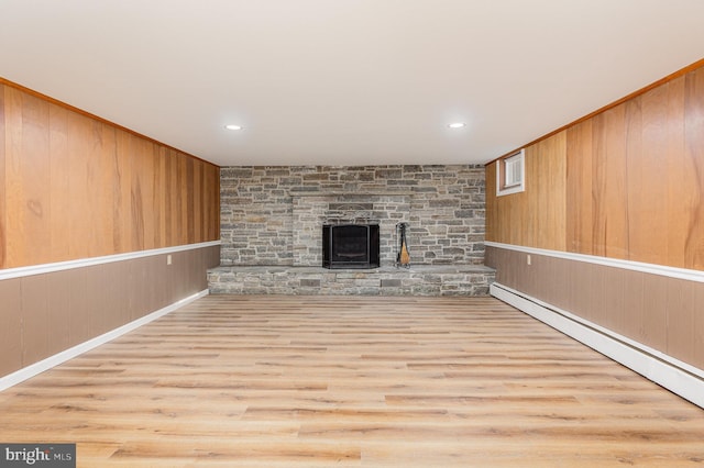
[{"label": "smooth white ceiling with two recessed lights", "polygon": [[0,0],[0,76],[221,166],[486,163],[704,58],[703,20],[703,0]]}]

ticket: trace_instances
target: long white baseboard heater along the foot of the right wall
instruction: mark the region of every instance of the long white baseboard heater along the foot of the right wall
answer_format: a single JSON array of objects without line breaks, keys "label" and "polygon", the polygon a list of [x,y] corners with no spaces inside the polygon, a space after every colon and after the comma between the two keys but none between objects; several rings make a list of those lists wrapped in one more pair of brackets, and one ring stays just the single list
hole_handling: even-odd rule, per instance
[{"label": "long white baseboard heater along the foot of the right wall", "polygon": [[493,297],[704,408],[704,370],[504,285],[493,283],[490,292]]}]

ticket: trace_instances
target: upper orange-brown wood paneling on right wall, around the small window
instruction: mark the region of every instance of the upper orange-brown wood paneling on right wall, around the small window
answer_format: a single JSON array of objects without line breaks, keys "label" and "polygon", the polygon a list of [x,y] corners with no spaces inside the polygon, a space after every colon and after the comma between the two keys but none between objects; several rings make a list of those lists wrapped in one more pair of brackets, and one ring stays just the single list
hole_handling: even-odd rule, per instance
[{"label": "upper orange-brown wood paneling on right wall, around the small window", "polygon": [[487,241],[704,269],[704,67],[529,146],[524,193],[495,166]]}]

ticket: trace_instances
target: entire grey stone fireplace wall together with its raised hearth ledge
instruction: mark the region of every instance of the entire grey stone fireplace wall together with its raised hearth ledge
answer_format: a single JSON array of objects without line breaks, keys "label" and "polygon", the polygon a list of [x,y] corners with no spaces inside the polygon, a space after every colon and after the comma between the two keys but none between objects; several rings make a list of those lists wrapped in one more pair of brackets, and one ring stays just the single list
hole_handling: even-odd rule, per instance
[{"label": "entire grey stone fireplace wall together with its raised hearth ledge", "polygon": [[[212,293],[482,296],[483,166],[286,166],[220,170]],[[396,225],[410,268],[397,268]],[[378,267],[323,268],[322,225],[378,225]]]}]

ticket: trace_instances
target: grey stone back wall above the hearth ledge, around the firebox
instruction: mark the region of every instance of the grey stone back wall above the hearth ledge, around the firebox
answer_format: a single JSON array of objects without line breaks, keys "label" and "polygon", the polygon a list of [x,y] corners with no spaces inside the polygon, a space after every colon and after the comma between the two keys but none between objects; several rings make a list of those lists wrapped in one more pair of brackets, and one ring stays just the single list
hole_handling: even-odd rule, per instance
[{"label": "grey stone back wall above the hearth ledge, around the firebox", "polygon": [[382,266],[400,221],[413,264],[484,261],[481,165],[223,167],[220,198],[223,266],[320,266],[326,221],[378,222]]}]

